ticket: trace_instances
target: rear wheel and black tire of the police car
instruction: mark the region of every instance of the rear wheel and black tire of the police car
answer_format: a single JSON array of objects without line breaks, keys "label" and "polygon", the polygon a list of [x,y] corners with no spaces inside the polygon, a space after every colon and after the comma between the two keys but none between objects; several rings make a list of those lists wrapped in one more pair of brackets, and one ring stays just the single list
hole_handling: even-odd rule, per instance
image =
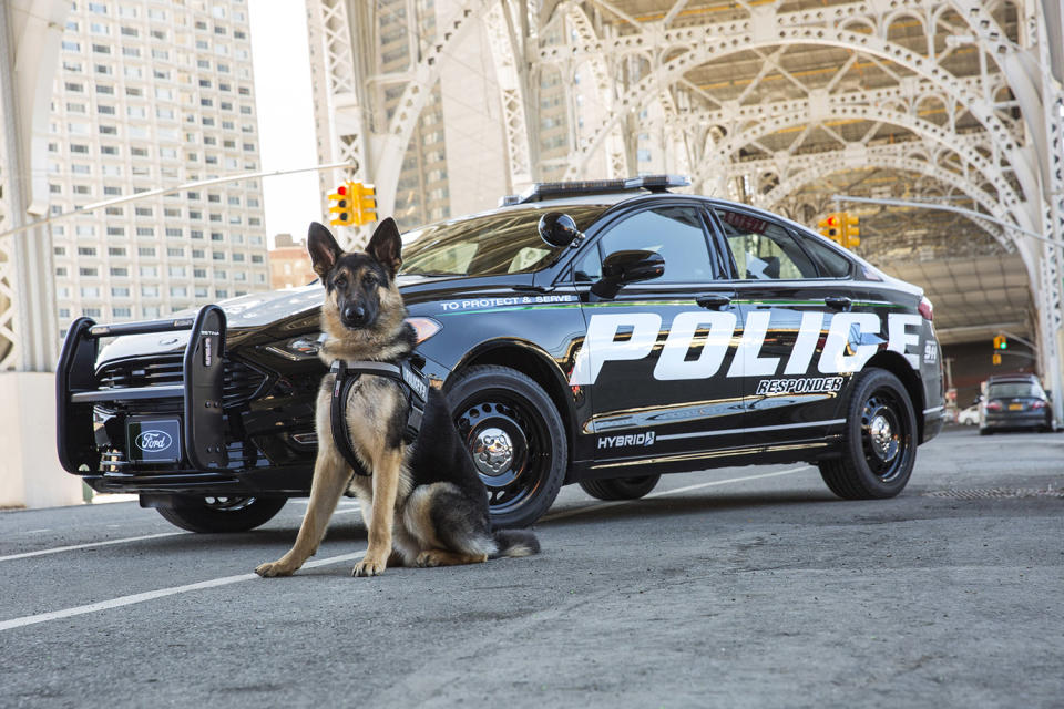
[{"label": "rear wheel and black tire of the police car", "polygon": [[853,378],[842,458],[820,463],[820,476],[843,500],[882,500],[900,493],[917,460],[917,417],[909,392],[883,369]]}]

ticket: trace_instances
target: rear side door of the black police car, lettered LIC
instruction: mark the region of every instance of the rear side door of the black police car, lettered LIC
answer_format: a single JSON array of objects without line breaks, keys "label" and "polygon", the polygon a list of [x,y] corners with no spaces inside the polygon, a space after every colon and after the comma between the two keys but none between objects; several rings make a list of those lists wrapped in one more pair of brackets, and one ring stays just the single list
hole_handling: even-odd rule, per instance
[{"label": "rear side door of the black police car, lettered LIC", "polygon": [[[878,319],[864,321],[877,316],[851,312],[845,256],[810,255],[799,235],[763,213],[715,205],[713,214],[734,263],[744,323],[736,361],[744,372],[746,441],[819,440],[840,423],[847,364],[878,347],[852,351],[851,330],[877,331]],[[835,261],[821,263],[832,255]]]}]

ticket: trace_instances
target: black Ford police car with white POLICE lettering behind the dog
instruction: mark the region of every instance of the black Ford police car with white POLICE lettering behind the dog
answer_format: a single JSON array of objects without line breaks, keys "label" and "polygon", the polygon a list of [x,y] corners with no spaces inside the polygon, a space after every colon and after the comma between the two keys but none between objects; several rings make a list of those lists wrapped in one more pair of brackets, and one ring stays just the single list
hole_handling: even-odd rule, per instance
[{"label": "black Ford police car with white POLICE lettering behind the dog", "polygon": [[[628,500],[662,473],[754,463],[815,463],[841,497],[890,497],[941,430],[920,288],[788,219],[669,192],[686,184],[541,184],[405,236],[418,363],[497,524],[531,524],[563,484]],[[80,318],[57,377],[63,466],[201,532],[307,495],[321,297]]]}]

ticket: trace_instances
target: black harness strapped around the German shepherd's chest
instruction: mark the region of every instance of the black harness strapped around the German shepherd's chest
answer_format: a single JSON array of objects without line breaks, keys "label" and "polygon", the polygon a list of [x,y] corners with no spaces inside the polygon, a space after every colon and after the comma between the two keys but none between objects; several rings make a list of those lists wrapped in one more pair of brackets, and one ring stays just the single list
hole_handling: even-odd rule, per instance
[{"label": "black harness strapped around the German shepherd's chest", "polygon": [[351,387],[362,374],[387,377],[399,382],[400,389],[407,398],[407,428],[402,433],[402,441],[413,443],[421,431],[421,420],[424,418],[424,404],[429,397],[429,379],[421,370],[402,360],[399,364],[390,362],[349,362],[338,359],[329,367],[329,373],[336,376],[332,384],[332,405],[330,419],[332,425],[332,441],[340,455],[355,470],[355,474],[368,477],[369,472],[355,455],[351,446],[350,432],[347,429],[347,395]]}]

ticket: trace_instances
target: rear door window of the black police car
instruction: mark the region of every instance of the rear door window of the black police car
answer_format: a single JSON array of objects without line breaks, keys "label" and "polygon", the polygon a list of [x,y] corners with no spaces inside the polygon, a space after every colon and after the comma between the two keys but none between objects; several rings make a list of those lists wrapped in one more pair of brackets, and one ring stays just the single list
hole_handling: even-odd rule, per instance
[{"label": "rear door window of the black police car", "polygon": [[816,266],[780,225],[720,207],[714,207],[714,212],[724,226],[739,278],[789,280],[817,277]]}]

